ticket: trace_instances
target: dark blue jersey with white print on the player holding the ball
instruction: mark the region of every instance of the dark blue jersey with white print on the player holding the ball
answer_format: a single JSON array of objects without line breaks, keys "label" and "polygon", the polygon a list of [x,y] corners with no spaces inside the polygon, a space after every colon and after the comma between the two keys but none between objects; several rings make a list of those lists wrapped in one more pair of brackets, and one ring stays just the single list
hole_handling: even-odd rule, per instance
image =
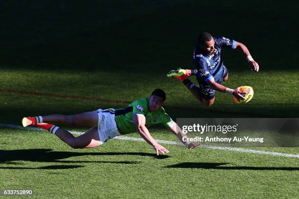
[{"label": "dark blue jersey with white print on the player holding the ball", "polygon": [[207,54],[199,47],[196,47],[193,52],[193,64],[197,70],[196,78],[199,83],[207,84],[208,80],[213,77],[217,79],[223,74],[223,62],[221,59],[221,48],[235,48],[235,40],[230,40],[224,37],[214,37],[214,51],[212,54]]}]

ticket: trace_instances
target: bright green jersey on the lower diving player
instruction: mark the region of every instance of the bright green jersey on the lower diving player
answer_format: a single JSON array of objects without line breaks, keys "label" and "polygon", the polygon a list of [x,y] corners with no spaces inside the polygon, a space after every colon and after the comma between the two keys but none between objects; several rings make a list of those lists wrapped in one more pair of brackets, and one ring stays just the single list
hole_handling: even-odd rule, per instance
[{"label": "bright green jersey on the lower diving player", "polygon": [[115,121],[118,128],[124,133],[136,132],[133,114],[142,114],[146,117],[146,124],[151,126],[163,124],[165,127],[174,125],[174,121],[169,117],[163,107],[157,111],[149,111],[149,98],[141,98],[128,104],[124,109],[115,110]]}]

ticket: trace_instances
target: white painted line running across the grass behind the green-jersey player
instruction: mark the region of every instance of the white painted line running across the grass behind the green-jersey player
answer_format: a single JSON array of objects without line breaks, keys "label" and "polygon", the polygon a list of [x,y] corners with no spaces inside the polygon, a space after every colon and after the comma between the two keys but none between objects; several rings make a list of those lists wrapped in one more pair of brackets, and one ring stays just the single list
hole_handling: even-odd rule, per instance
[{"label": "white painted line running across the grass behind the green-jersey player", "polygon": [[[13,124],[0,124],[2,128],[14,128],[14,129],[25,129],[25,130],[36,130],[36,131],[45,131],[41,128],[37,127],[22,127],[20,125],[13,125]],[[82,135],[85,132],[78,132],[78,131],[69,131],[71,134],[74,135]],[[117,136],[114,139],[122,139],[122,140],[133,140],[133,141],[145,141],[141,138],[133,138],[133,137],[125,137],[125,136]],[[163,144],[171,144],[171,145],[178,145],[178,142],[175,141],[168,141],[168,140],[161,140],[156,139],[157,142]],[[182,145],[182,144],[181,144]],[[223,146],[211,146],[202,144],[199,147],[202,148],[209,148],[209,149],[219,149],[219,150],[227,150],[227,151],[237,151],[237,152],[245,152],[245,153],[254,153],[254,154],[262,154],[262,155],[269,155],[269,156],[282,156],[282,157],[289,157],[289,158],[299,158],[299,154],[286,154],[286,153],[279,153],[273,151],[259,151],[253,149],[242,149],[242,148],[233,148],[233,147],[223,147]]]}]

